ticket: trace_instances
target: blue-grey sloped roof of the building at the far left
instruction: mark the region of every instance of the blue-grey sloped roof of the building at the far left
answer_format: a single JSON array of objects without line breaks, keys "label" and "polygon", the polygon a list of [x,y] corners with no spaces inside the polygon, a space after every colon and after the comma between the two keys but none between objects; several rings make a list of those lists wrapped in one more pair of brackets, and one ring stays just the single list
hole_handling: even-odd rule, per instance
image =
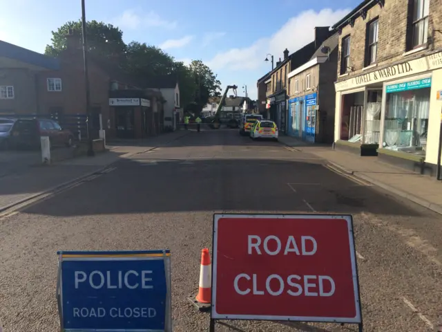
[{"label": "blue-grey sloped roof of the building at the far left", "polygon": [[59,60],[55,57],[48,57],[48,55],[3,42],[2,40],[0,40],[0,57],[8,57],[26,64],[47,68],[52,71],[57,71],[60,67]]}]

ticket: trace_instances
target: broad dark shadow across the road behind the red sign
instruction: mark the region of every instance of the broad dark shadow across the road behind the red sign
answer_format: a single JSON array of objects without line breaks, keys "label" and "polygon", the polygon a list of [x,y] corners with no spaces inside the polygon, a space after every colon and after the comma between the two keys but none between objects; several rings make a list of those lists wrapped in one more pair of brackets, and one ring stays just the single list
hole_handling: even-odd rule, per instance
[{"label": "broad dark shadow across the road behind the red sign", "polygon": [[155,212],[336,212],[419,216],[318,160],[122,160],[115,171],[26,209],[52,216]]}]

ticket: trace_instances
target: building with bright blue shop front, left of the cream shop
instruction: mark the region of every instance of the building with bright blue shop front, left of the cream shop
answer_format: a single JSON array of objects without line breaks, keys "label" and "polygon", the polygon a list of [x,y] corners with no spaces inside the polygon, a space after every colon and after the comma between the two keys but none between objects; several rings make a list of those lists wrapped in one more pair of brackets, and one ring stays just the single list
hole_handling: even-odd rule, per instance
[{"label": "building with bright blue shop front, left of the cream shop", "polygon": [[316,49],[309,61],[291,71],[287,134],[308,142],[333,142],[334,82],[338,64],[338,33]]}]

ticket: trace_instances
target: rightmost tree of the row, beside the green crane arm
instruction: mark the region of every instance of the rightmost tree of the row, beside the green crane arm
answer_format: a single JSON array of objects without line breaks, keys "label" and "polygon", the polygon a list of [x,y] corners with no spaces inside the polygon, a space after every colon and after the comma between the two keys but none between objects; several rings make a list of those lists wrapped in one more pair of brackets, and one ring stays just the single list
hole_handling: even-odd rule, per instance
[{"label": "rightmost tree of the row, beside the green crane arm", "polygon": [[193,60],[189,68],[194,75],[194,82],[197,85],[195,102],[203,107],[210,97],[221,94],[221,82],[201,60]]}]

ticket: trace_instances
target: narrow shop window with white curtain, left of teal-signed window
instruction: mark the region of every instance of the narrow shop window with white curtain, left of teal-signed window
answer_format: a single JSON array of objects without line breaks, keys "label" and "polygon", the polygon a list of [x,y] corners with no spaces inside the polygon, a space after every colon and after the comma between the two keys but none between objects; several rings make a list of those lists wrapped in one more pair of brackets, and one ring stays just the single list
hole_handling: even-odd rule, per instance
[{"label": "narrow shop window with white curtain, left of teal-signed window", "polygon": [[364,144],[379,144],[381,136],[381,104],[382,90],[368,90],[363,124]]}]

